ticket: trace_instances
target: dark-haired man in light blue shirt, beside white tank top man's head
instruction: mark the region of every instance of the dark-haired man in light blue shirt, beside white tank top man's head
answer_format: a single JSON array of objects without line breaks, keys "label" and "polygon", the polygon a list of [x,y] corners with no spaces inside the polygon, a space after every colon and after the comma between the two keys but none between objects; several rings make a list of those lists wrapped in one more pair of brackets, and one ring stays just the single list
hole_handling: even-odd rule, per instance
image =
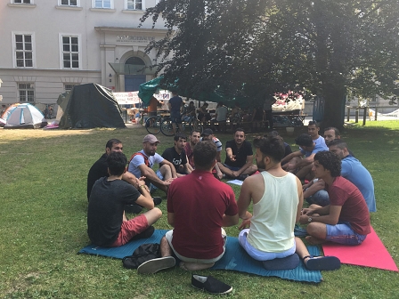
[{"label": "dark-haired man in light blue shirt, beside white tank top man's head", "polygon": [[[300,180],[307,179],[310,181],[314,178],[312,173],[314,155],[321,150],[329,150],[329,148],[325,142],[316,143],[313,137],[306,133],[300,134],[295,142],[299,145],[299,150],[283,158],[281,165],[284,165],[283,168],[286,171],[297,175]],[[305,158],[302,158],[304,155]]]}]

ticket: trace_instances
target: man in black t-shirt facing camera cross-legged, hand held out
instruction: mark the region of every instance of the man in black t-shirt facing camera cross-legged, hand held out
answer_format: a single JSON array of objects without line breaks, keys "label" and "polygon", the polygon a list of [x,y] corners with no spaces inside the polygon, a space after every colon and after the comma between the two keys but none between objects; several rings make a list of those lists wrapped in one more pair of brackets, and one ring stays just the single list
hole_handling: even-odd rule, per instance
[{"label": "man in black t-shirt facing camera cross-legged, hand held out", "polygon": [[253,152],[250,142],[245,140],[245,132],[237,128],[234,139],[226,142],[226,158],[224,164],[217,163],[220,171],[232,178],[245,179],[257,170],[253,164]]}]

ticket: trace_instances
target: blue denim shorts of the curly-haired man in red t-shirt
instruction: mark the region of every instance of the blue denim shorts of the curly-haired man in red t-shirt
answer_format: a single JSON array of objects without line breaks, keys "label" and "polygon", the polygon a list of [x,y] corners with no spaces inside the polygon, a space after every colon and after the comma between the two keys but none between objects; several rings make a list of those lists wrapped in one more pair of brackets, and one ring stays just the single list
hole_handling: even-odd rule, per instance
[{"label": "blue denim shorts of the curly-haired man in red t-shirt", "polygon": [[326,229],[326,241],[338,244],[359,245],[367,237],[367,235],[360,235],[354,232],[349,222],[338,222],[336,225],[326,224]]}]

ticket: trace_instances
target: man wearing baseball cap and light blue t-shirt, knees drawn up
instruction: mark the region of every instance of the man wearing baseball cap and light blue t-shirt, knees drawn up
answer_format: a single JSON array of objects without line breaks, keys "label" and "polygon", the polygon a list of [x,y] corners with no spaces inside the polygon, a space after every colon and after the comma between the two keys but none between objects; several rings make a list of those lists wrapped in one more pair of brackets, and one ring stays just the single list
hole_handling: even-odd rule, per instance
[{"label": "man wearing baseball cap and light blue t-shirt, knees drawn up", "polygon": [[[167,188],[176,175],[175,166],[156,153],[159,140],[152,134],[145,135],[142,140],[142,150],[130,158],[127,171],[136,177],[145,177],[145,182],[151,187],[151,192]],[[152,166],[159,163],[159,170],[154,172]]]}]

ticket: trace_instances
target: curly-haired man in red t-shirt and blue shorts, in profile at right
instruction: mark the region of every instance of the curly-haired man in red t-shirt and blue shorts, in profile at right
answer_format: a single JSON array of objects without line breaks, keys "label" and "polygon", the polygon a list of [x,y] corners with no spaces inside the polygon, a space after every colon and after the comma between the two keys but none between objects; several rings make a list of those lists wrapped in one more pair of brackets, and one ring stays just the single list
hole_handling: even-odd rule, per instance
[{"label": "curly-haired man in red t-shirt and blue shorts, in profile at right", "polygon": [[340,176],[341,159],[331,151],[319,151],[312,170],[326,183],[330,205],[303,209],[299,222],[309,223],[306,240],[312,244],[361,244],[371,232],[369,208],[360,190]]}]

